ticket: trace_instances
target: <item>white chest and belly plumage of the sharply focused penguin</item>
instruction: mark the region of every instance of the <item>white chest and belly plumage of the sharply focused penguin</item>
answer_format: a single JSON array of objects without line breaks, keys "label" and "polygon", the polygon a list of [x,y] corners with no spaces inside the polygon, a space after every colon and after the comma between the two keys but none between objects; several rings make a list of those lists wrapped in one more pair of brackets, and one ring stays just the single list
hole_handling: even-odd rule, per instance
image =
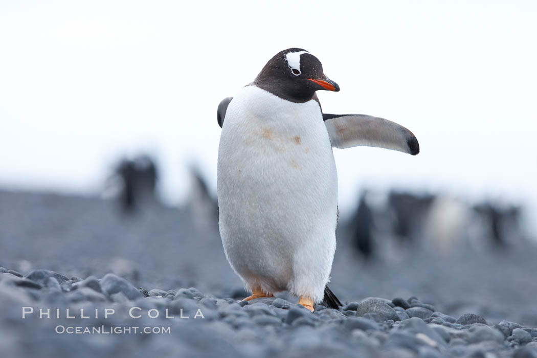
[{"label": "white chest and belly plumage of the sharply focused penguin", "polygon": [[224,250],[247,287],[324,289],[336,246],[337,173],[315,100],[297,104],[244,87],[222,128],[217,192]]}]

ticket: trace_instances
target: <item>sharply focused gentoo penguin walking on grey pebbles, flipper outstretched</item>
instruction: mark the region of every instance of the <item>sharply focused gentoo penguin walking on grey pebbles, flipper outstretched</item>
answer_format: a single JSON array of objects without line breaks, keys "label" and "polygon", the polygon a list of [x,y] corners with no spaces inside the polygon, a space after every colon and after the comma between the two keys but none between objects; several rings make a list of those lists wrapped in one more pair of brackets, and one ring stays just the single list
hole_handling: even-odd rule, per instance
[{"label": "sharply focused gentoo penguin walking on grey pebbles, flipper outstretched", "polygon": [[341,305],[326,287],[338,216],[332,147],[418,154],[416,137],[396,123],[323,114],[318,90],[339,86],[317,57],[289,48],[218,107],[220,235],[229,264],[252,291],[246,301],[287,290],[310,311],[323,298]]}]

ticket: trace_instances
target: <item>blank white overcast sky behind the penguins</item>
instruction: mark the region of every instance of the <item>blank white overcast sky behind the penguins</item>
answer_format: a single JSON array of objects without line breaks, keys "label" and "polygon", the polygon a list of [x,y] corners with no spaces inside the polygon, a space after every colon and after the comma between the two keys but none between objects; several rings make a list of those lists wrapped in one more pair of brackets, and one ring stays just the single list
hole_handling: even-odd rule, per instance
[{"label": "blank white overcast sky behind the penguins", "polygon": [[363,186],[537,203],[537,2],[183,3],[0,1],[1,187],[91,193],[144,149],[169,202],[188,162],[215,186],[220,100],[302,47],[341,87],[324,112],[422,150],[335,150],[344,208]]}]

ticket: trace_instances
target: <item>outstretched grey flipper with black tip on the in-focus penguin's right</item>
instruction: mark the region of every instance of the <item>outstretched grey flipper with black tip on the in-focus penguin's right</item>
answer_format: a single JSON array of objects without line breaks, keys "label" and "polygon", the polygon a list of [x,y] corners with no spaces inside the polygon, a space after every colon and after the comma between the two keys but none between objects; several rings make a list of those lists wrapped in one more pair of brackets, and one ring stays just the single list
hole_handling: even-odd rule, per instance
[{"label": "outstretched grey flipper with black tip on the in-focus penguin's right", "polygon": [[380,147],[416,155],[419,143],[407,128],[387,119],[366,114],[323,113],[330,143],[335,148],[350,148],[358,145]]}]

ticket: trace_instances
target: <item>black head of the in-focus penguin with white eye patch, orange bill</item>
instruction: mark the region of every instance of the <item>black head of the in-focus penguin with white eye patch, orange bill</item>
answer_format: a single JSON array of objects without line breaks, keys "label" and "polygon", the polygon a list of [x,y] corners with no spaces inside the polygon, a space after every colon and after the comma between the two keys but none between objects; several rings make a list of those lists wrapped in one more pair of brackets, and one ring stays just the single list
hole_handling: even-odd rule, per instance
[{"label": "black head of the in-focus penguin with white eye patch, orange bill", "polygon": [[321,61],[301,48],[288,48],[276,54],[253,84],[297,103],[309,101],[318,90],[339,91],[337,83],[324,75]]}]

